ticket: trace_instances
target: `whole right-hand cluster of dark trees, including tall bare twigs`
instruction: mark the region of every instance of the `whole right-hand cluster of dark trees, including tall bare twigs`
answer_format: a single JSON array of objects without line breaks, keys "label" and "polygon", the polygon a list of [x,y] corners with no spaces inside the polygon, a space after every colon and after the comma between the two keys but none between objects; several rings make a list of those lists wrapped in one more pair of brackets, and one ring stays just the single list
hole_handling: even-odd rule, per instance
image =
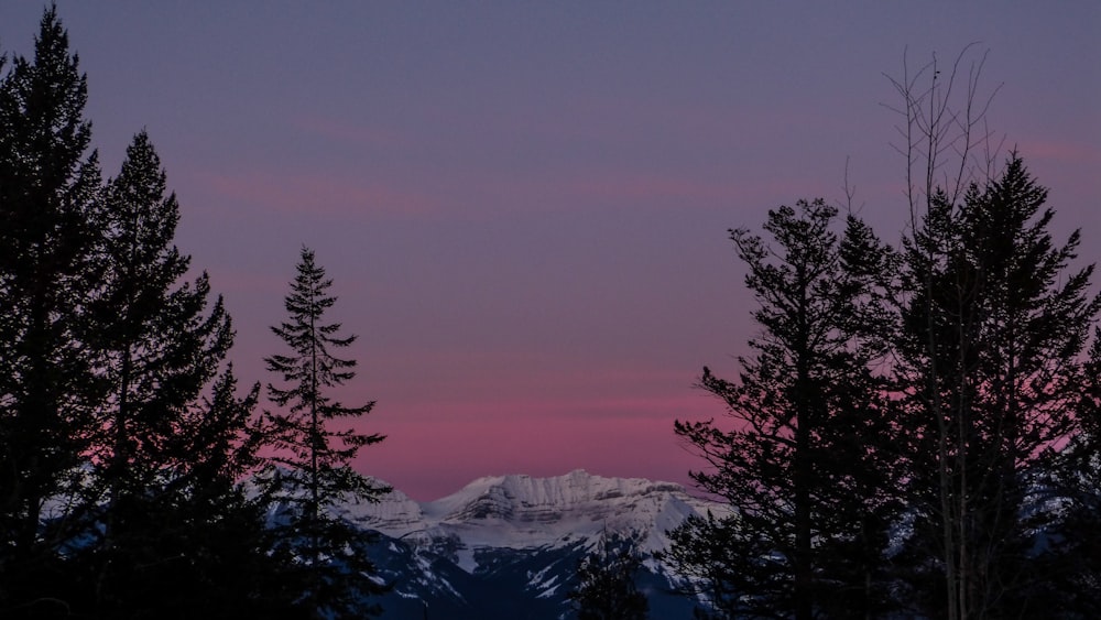
[{"label": "whole right-hand cluster of dark trees, including tall bare twigs", "polygon": [[1101,617],[1093,267],[990,149],[968,54],[894,81],[900,248],[824,200],[730,231],[760,333],[704,369],[730,422],[676,425],[735,509],[673,533],[700,617]]}]

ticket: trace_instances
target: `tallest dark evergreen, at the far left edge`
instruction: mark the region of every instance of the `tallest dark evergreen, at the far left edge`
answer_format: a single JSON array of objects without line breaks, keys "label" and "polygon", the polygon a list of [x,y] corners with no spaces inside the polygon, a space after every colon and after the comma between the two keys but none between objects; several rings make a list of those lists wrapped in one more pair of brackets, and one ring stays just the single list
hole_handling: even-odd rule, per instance
[{"label": "tallest dark evergreen, at the far left edge", "polygon": [[51,8],[33,62],[0,76],[0,614],[64,587],[66,504],[46,507],[78,480],[99,399],[84,346],[100,177],[78,67]]}]

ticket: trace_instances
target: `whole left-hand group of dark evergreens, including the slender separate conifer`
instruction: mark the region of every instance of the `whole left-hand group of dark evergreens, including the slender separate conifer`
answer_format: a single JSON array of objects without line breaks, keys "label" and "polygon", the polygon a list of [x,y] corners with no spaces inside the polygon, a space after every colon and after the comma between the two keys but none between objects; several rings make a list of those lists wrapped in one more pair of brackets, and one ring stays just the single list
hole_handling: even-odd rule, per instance
[{"label": "whole left-hand group of dark evergreens, including the slender separate conifer", "polygon": [[86,98],[51,9],[0,73],[0,617],[369,616],[370,541],[327,509],[384,491],[349,467],[382,437],[326,426],[371,409],[328,394],[331,282],[303,248],[258,412],[149,137],[102,181]]}]

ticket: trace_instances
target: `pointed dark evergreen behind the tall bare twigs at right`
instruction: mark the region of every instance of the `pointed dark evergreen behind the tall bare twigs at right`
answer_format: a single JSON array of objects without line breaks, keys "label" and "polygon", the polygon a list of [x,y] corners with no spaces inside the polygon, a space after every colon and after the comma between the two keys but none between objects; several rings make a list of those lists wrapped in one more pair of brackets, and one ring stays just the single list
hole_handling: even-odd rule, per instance
[{"label": "pointed dark evergreen behind the tall bare twigs at right", "polygon": [[[1101,298],[1080,242],[1048,228],[1047,191],[1014,153],[999,177],[944,192],[907,240],[896,369],[905,391],[916,514],[909,564],[930,616],[1043,617],[1034,535],[1045,480],[1080,434],[1083,353]],[[923,578],[924,577],[924,578]],[[951,612],[951,613],[949,613]]]}]

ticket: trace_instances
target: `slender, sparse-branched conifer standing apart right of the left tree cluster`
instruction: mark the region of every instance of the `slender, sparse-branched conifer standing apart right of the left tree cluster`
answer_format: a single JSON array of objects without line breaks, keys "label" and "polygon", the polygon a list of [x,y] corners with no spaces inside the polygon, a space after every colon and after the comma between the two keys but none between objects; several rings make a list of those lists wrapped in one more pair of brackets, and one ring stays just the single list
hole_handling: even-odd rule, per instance
[{"label": "slender, sparse-branched conifer standing apart right of the left tree cluster", "polygon": [[268,370],[286,384],[268,385],[269,398],[282,407],[265,416],[276,450],[272,497],[284,507],[276,522],[281,545],[298,558],[307,576],[304,605],[320,616],[361,617],[378,611],[366,599],[382,590],[367,576],[374,568],[363,546],[372,539],[333,509],[348,501],[378,501],[389,490],[351,467],[361,447],[384,437],[331,428],[334,423],[355,421],[374,406],[374,402],[346,406],[329,393],[356,376],[356,361],[338,358],[333,351],[348,347],[356,336],[341,337],[340,324],[325,323],[326,311],[336,303],[327,293],[331,284],[325,270],[314,262],[314,252],[303,247],[297,275],[285,298],[288,320],[272,327],[290,352],[265,360]]}]

